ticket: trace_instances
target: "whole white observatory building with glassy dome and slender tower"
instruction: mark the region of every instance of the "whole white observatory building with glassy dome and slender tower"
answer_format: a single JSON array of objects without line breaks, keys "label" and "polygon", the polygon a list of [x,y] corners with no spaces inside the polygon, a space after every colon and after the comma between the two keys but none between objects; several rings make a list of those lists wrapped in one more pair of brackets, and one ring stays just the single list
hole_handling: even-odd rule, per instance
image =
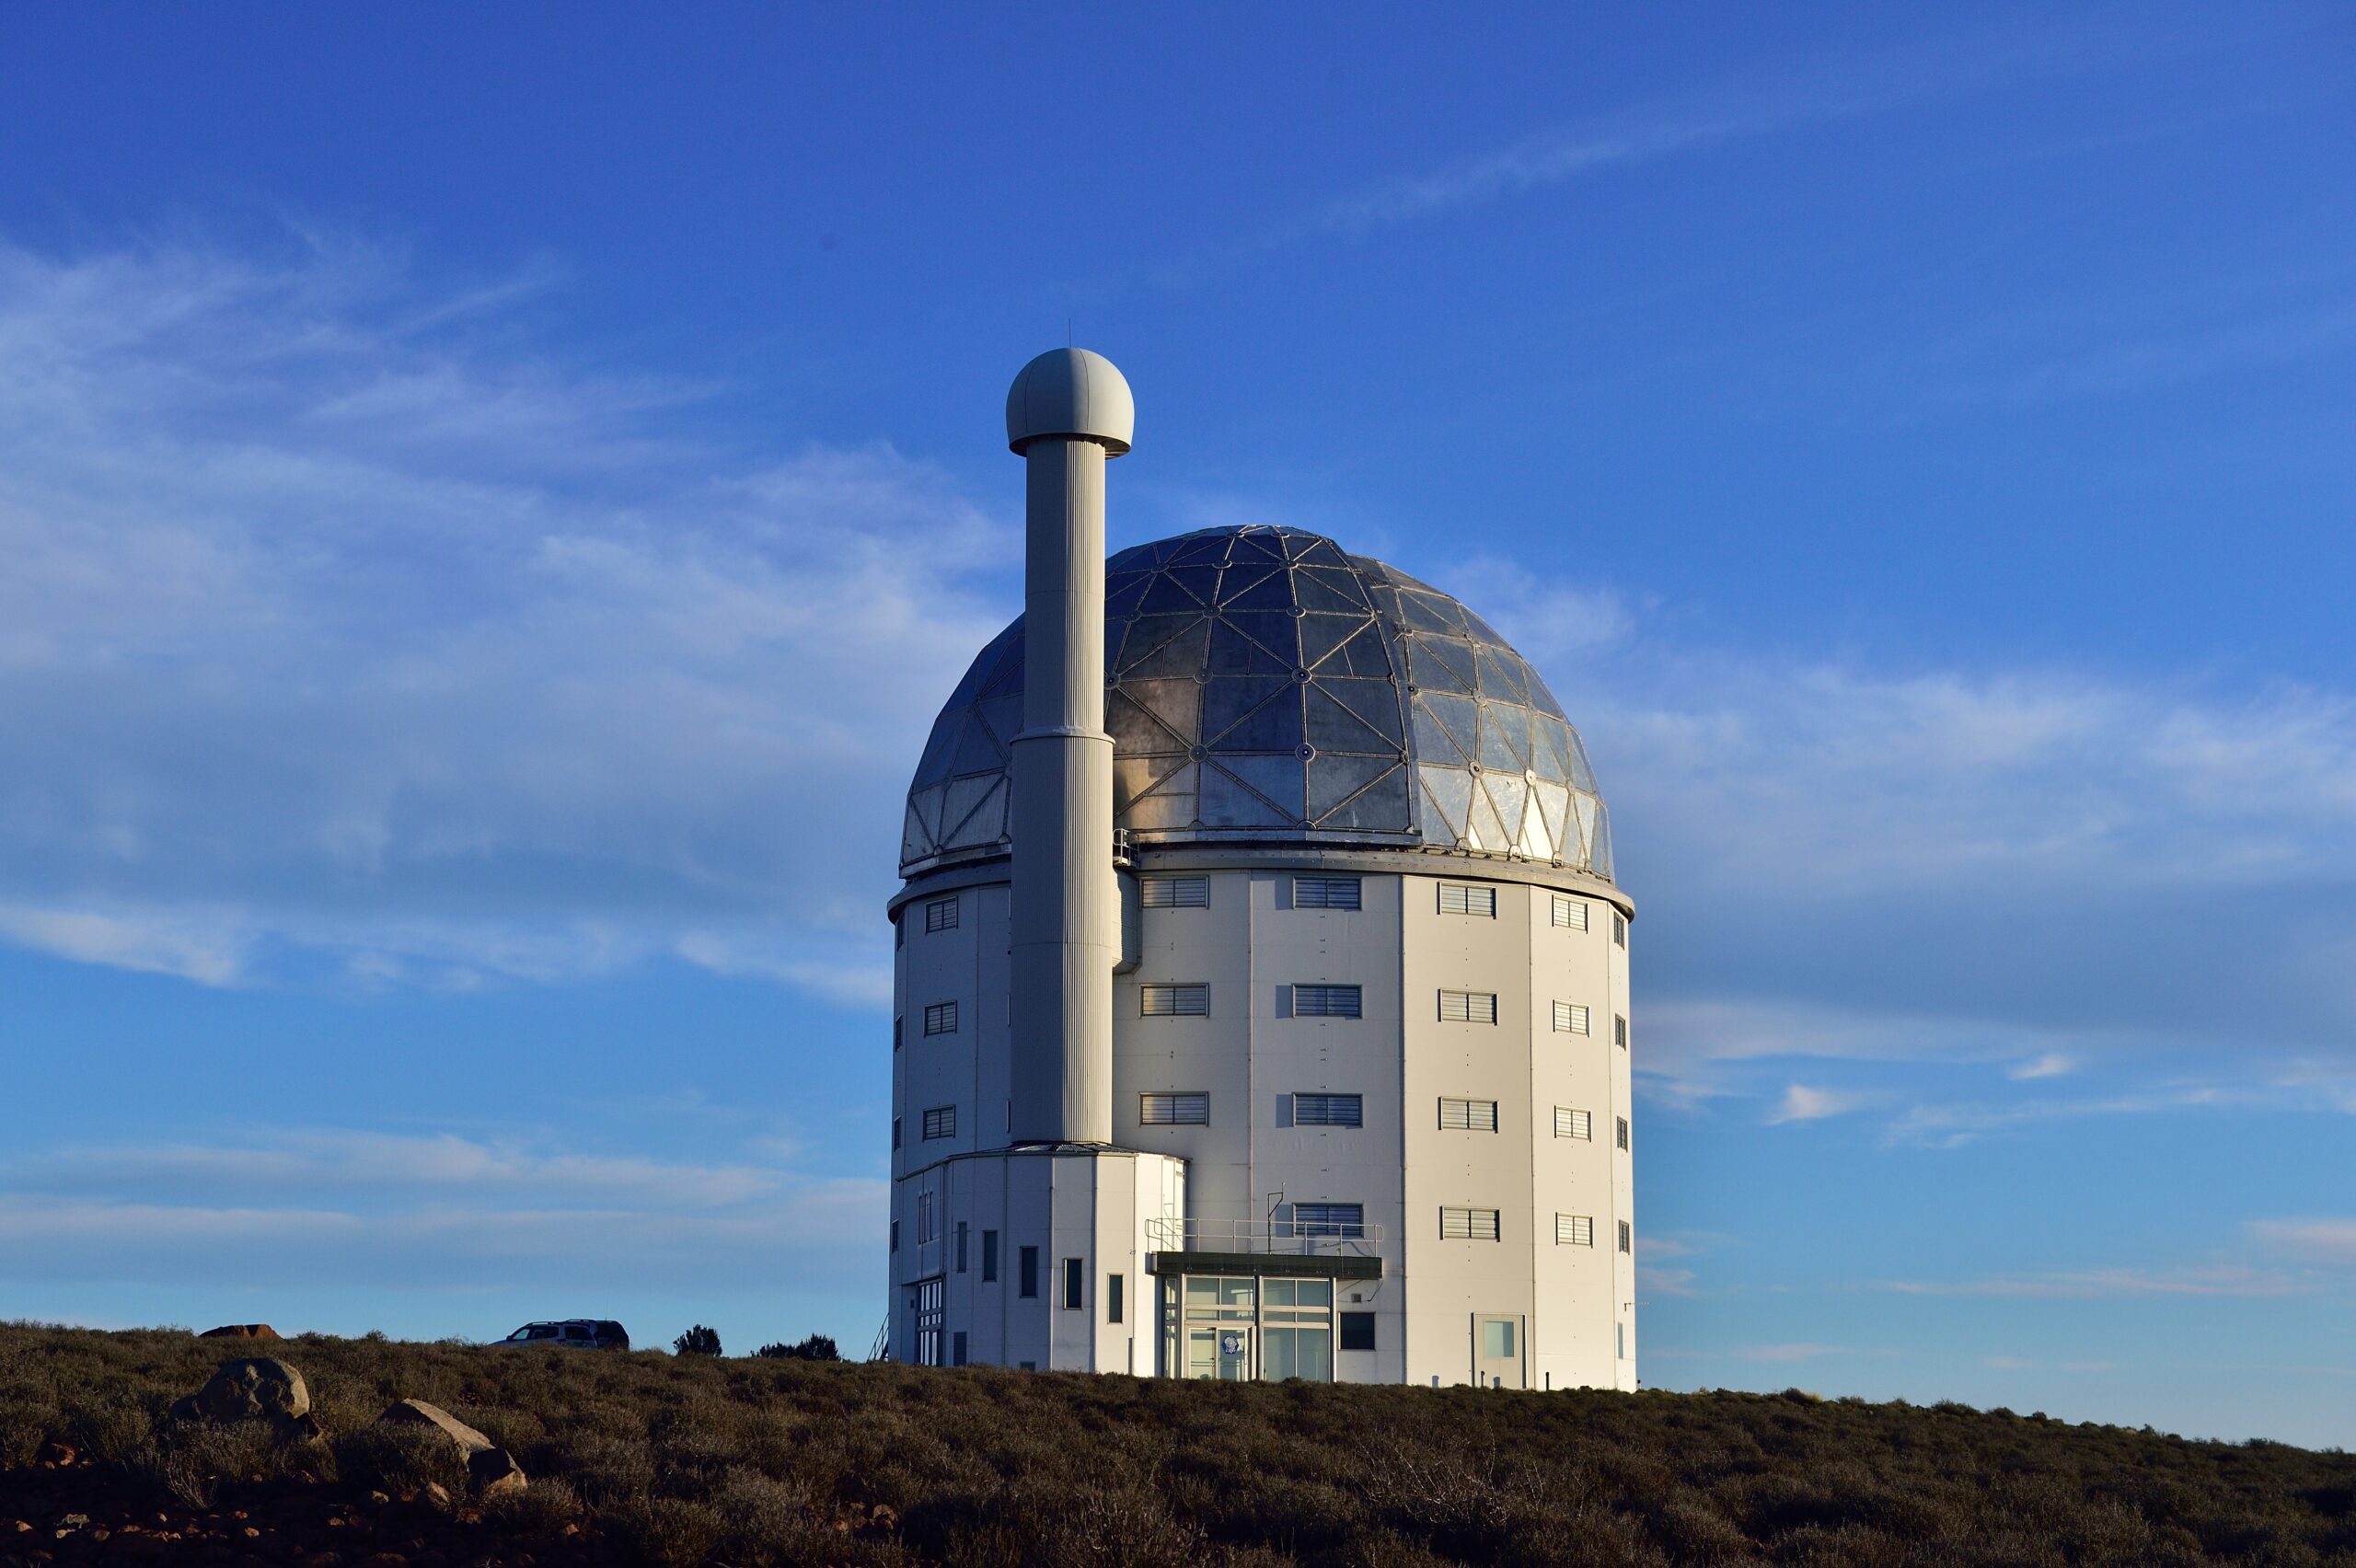
[{"label": "whole white observatory building with glassy dome and slender tower", "polygon": [[1635,1387],[1628,921],[1579,732],[1458,600],[1291,527],[1105,560],[1129,384],[1006,400],[1025,614],[891,902],[891,1354]]}]

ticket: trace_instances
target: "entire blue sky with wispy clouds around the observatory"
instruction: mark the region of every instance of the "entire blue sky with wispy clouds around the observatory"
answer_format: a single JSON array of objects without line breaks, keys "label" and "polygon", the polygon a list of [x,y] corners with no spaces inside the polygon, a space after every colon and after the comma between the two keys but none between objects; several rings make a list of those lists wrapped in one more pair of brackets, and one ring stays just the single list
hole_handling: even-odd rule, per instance
[{"label": "entire blue sky with wispy clouds around the observatory", "polygon": [[881,1321],[898,803],[1317,527],[1581,725],[1644,1373],[2356,1441],[2337,7],[14,7],[0,1316]]}]

